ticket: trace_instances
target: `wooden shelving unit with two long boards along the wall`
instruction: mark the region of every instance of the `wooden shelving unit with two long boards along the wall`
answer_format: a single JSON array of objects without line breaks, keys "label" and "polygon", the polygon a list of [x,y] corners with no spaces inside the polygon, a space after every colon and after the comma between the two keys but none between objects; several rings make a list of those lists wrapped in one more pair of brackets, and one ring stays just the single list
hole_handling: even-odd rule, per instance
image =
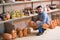
[{"label": "wooden shelving unit with two long boards along the wall", "polygon": [[[57,1],[57,0],[55,0]],[[50,0],[44,0],[44,1],[21,1],[21,2],[14,2],[14,3],[5,3],[5,4],[0,4],[0,6],[8,6],[8,5],[16,5],[16,4],[27,4],[27,3],[31,3],[31,7],[33,8],[33,4],[34,3],[42,3],[42,2],[50,2]],[[5,10],[5,9],[4,9]],[[60,11],[60,9],[55,9],[55,10],[50,10],[48,11],[47,13],[50,14],[50,13],[54,13],[54,12],[57,12],[57,11]],[[0,24],[4,24],[6,22],[12,22],[15,21],[15,20],[21,20],[21,19],[25,19],[25,18],[31,18],[32,16],[37,16],[38,14],[30,14],[30,16],[24,16],[24,17],[21,17],[21,18],[15,18],[15,19],[9,19],[9,20],[6,20],[6,21],[0,21]]]}]

